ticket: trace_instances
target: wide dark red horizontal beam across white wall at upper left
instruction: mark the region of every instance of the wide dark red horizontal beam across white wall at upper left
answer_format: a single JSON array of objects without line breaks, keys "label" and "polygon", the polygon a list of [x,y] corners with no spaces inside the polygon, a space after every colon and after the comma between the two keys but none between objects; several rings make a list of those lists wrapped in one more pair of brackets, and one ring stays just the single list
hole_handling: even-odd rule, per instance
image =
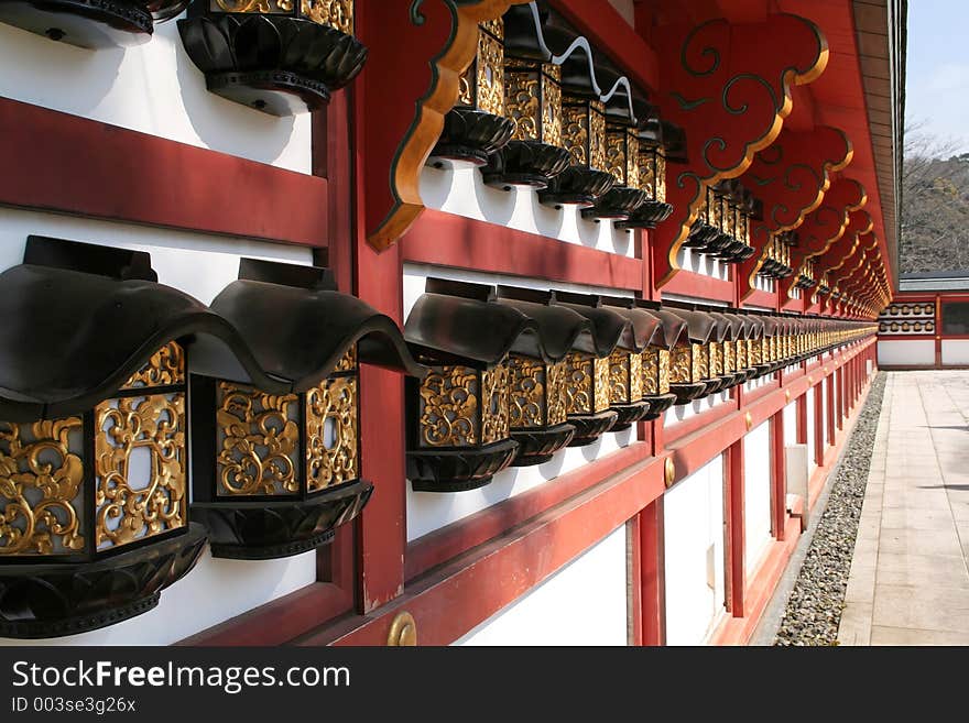
[{"label": "wide dark red horizontal beam across white wall at upper left", "polygon": [[0,157],[7,168],[2,205],[312,247],[327,242],[327,182],[317,176],[8,98],[0,98]]}]

